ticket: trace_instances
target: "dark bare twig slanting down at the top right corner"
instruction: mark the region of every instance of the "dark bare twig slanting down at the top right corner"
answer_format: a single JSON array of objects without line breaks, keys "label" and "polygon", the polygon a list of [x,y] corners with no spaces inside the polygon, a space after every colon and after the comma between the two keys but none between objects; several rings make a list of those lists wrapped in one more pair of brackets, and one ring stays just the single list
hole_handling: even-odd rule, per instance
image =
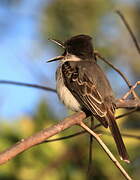
[{"label": "dark bare twig slanting down at the top right corner", "polygon": [[119,10],[117,10],[116,13],[120,16],[121,20],[123,21],[126,29],[128,30],[128,32],[129,32],[129,34],[130,34],[130,36],[131,36],[131,38],[132,38],[132,40],[133,40],[133,42],[134,42],[134,44],[135,44],[135,46],[136,46],[136,49],[137,49],[138,53],[140,54],[140,46],[139,46],[139,43],[138,43],[138,41],[137,41],[137,39],[136,39],[136,37],[135,37],[132,29],[130,28],[130,25],[129,25],[128,22],[126,21],[124,15],[123,15]]}]

